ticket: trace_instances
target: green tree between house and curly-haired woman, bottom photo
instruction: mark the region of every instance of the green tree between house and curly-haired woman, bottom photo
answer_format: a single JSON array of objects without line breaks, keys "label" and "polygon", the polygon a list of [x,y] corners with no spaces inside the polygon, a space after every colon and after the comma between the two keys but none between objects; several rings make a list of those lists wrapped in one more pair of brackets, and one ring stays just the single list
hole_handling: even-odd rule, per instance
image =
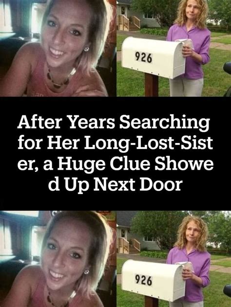
[{"label": "green tree between house and curly-haired woman, bottom photo", "polygon": [[153,238],[161,250],[170,250],[186,215],[183,211],[139,211],[132,219],[131,231]]}]

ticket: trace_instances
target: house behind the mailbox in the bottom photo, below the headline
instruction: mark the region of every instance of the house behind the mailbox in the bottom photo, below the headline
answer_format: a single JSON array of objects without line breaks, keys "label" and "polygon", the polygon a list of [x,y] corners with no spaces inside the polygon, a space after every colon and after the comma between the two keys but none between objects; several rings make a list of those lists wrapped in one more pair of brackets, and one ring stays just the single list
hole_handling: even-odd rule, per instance
[{"label": "house behind the mailbox in the bottom photo, below the headline", "polygon": [[155,241],[150,238],[145,238],[142,235],[131,233],[131,221],[135,217],[137,211],[117,211],[116,212],[116,235],[117,235],[117,251],[119,252],[119,238],[124,238],[127,241],[135,239],[140,243],[140,249],[160,250]]}]

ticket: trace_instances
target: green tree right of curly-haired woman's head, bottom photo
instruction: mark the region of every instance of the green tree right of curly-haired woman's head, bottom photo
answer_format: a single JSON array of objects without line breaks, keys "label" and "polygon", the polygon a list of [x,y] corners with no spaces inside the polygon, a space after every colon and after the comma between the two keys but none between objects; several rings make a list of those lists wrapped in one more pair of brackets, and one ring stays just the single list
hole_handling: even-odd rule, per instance
[{"label": "green tree right of curly-haired woman's head, bottom photo", "polygon": [[220,212],[210,217],[209,241],[216,245],[221,244],[222,248],[231,250],[231,215]]}]

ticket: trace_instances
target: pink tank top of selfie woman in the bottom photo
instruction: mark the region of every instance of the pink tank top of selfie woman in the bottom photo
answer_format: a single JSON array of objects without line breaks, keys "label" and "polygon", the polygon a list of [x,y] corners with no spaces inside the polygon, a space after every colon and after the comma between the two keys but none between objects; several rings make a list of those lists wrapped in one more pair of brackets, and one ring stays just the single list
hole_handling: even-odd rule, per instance
[{"label": "pink tank top of selfie woman in the bottom photo", "polygon": [[[44,295],[43,295],[45,285],[46,285],[45,277],[42,275],[39,278],[39,282],[36,287],[36,290],[31,297],[30,304],[29,304],[30,307],[46,307],[46,304],[44,302]],[[81,301],[82,301],[82,298],[80,296],[76,296],[69,304],[69,307],[76,307]]]}]

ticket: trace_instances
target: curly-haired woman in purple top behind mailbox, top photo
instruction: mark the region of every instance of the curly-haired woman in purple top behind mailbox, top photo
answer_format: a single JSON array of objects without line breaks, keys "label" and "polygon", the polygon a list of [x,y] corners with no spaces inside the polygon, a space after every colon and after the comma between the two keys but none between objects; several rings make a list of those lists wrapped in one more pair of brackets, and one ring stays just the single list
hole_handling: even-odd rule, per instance
[{"label": "curly-haired woman in purple top behind mailbox, top photo", "polygon": [[169,29],[167,40],[191,39],[185,43],[182,54],[186,57],[185,73],[170,79],[170,95],[200,97],[203,89],[203,64],[210,60],[210,31],[206,28],[208,4],[206,0],[181,0],[174,25]]}]

